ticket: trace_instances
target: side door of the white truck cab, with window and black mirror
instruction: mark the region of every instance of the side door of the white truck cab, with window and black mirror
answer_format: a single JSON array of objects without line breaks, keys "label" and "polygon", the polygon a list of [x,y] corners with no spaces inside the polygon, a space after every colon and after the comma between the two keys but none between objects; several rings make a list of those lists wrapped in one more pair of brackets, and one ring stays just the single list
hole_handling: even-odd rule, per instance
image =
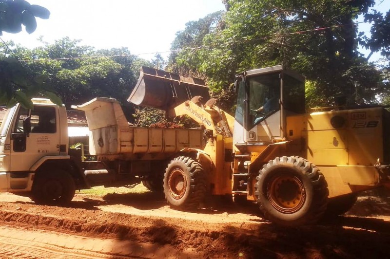
[{"label": "side door of the white truck cab, with window and black mirror", "polygon": [[[23,120],[31,119],[31,132],[23,131]],[[59,114],[53,106],[20,107],[11,133],[11,171],[26,172],[41,157],[59,155]]]}]

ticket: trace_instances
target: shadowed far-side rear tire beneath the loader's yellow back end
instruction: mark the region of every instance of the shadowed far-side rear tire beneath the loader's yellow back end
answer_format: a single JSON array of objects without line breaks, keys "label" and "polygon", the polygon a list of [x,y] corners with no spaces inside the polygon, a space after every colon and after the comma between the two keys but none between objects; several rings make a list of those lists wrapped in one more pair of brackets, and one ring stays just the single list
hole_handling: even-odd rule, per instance
[{"label": "shadowed far-side rear tire beneath the loader's yellow back end", "polygon": [[357,201],[358,194],[349,193],[329,199],[323,219],[335,218],[349,211]]}]

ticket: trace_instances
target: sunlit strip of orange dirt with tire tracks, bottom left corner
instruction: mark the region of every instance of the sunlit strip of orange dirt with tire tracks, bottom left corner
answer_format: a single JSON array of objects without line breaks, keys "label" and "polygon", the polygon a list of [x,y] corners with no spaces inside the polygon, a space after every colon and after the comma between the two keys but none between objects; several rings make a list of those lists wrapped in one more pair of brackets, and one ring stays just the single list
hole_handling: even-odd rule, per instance
[{"label": "sunlit strip of orange dirt with tire tracks, bottom left corner", "polygon": [[151,244],[117,243],[117,240],[7,227],[0,227],[0,242],[0,258],[128,259],[160,256]]}]

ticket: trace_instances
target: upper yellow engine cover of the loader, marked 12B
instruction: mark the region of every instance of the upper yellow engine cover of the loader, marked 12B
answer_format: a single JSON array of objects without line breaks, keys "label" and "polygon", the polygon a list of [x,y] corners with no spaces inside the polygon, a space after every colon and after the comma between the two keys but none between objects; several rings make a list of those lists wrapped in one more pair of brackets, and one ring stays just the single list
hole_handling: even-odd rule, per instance
[{"label": "upper yellow engine cover of the loader, marked 12B", "polygon": [[[331,120],[342,118],[341,127]],[[314,112],[287,117],[287,139],[317,166],[373,166],[383,160],[382,109]]]}]

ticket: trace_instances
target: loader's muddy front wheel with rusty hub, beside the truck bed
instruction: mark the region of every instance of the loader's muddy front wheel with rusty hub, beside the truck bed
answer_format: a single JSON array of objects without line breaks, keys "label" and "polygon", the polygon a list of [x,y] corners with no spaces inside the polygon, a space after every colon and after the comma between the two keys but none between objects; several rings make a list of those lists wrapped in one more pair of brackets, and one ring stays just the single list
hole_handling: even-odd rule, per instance
[{"label": "loader's muddy front wheel with rusty hub, beside the truck bed", "polygon": [[171,207],[196,208],[206,195],[203,167],[189,157],[174,158],[165,170],[164,194]]}]

